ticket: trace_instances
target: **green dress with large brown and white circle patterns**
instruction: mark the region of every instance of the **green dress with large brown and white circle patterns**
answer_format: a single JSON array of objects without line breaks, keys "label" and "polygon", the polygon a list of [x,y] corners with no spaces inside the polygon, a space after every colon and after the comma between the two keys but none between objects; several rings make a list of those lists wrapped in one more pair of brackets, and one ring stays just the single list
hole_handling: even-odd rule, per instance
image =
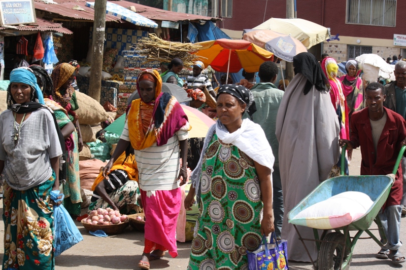
[{"label": "green dress with large brown and white circle patterns", "polygon": [[188,269],[248,269],[247,251],[258,249],[262,239],[263,204],[253,160],[214,134],[203,159],[200,189]]}]

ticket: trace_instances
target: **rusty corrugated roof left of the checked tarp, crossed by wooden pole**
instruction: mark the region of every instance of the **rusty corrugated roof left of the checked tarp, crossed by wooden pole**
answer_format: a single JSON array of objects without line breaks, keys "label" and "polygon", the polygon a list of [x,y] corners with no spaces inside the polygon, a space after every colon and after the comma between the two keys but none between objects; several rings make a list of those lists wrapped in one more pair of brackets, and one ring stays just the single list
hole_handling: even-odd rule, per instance
[{"label": "rusty corrugated roof left of the checked tarp, crossed by wooden pole", "polygon": [[[86,2],[84,0],[54,0],[58,4],[46,4],[41,0],[34,0],[34,6],[38,10],[51,12],[58,14],[63,17],[73,18],[77,20],[89,20],[93,21],[94,19],[94,10],[86,7]],[[78,7],[80,10],[73,9]],[[83,9],[83,10],[82,10]],[[116,16],[106,14],[106,21],[112,22],[121,21]]]}]

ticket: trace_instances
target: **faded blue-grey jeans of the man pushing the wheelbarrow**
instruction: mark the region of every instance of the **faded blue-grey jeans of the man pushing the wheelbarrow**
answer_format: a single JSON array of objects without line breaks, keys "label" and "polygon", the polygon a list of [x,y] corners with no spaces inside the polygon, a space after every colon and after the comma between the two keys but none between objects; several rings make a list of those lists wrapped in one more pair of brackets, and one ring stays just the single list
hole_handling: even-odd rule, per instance
[{"label": "faded blue-grey jeans of the man pushing the wheelbarrow", "polygon": [[388,244],[382,246],[382,249],[398,250],[402,246],[399,240],[401,213],[402,207],[400,205],[388,206],[385,211],[382,209],[379,211],[378,215],[388,238]]}]

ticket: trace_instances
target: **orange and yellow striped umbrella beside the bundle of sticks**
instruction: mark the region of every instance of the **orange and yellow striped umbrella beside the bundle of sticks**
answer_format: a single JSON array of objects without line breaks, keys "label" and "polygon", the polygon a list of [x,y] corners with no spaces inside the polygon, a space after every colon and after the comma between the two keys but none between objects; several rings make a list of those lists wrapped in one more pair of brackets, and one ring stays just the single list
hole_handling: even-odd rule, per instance
[{"label": "orange and yellow striped umbrella beside the bundle of sticks", "polygon": [[219,72],[257,72],[265,61],[272,61],[274,54],[244,40],[227,40],[196,43],[203,46],[195,54],[200,56],[205,66],[211,65]]}]

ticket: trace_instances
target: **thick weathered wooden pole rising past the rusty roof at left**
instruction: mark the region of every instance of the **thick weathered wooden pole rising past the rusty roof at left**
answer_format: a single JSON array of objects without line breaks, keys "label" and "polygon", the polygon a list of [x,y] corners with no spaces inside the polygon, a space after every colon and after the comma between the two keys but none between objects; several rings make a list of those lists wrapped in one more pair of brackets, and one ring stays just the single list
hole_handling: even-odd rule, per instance
[{"label": "thick weathered wooden pole rising past the rusty roof at left", "polygon": [[101,68],[103,68],[103,47],[105,45],[107,0],[94,2],[92,69],[90,70],[89,96],[100,101]]}]

